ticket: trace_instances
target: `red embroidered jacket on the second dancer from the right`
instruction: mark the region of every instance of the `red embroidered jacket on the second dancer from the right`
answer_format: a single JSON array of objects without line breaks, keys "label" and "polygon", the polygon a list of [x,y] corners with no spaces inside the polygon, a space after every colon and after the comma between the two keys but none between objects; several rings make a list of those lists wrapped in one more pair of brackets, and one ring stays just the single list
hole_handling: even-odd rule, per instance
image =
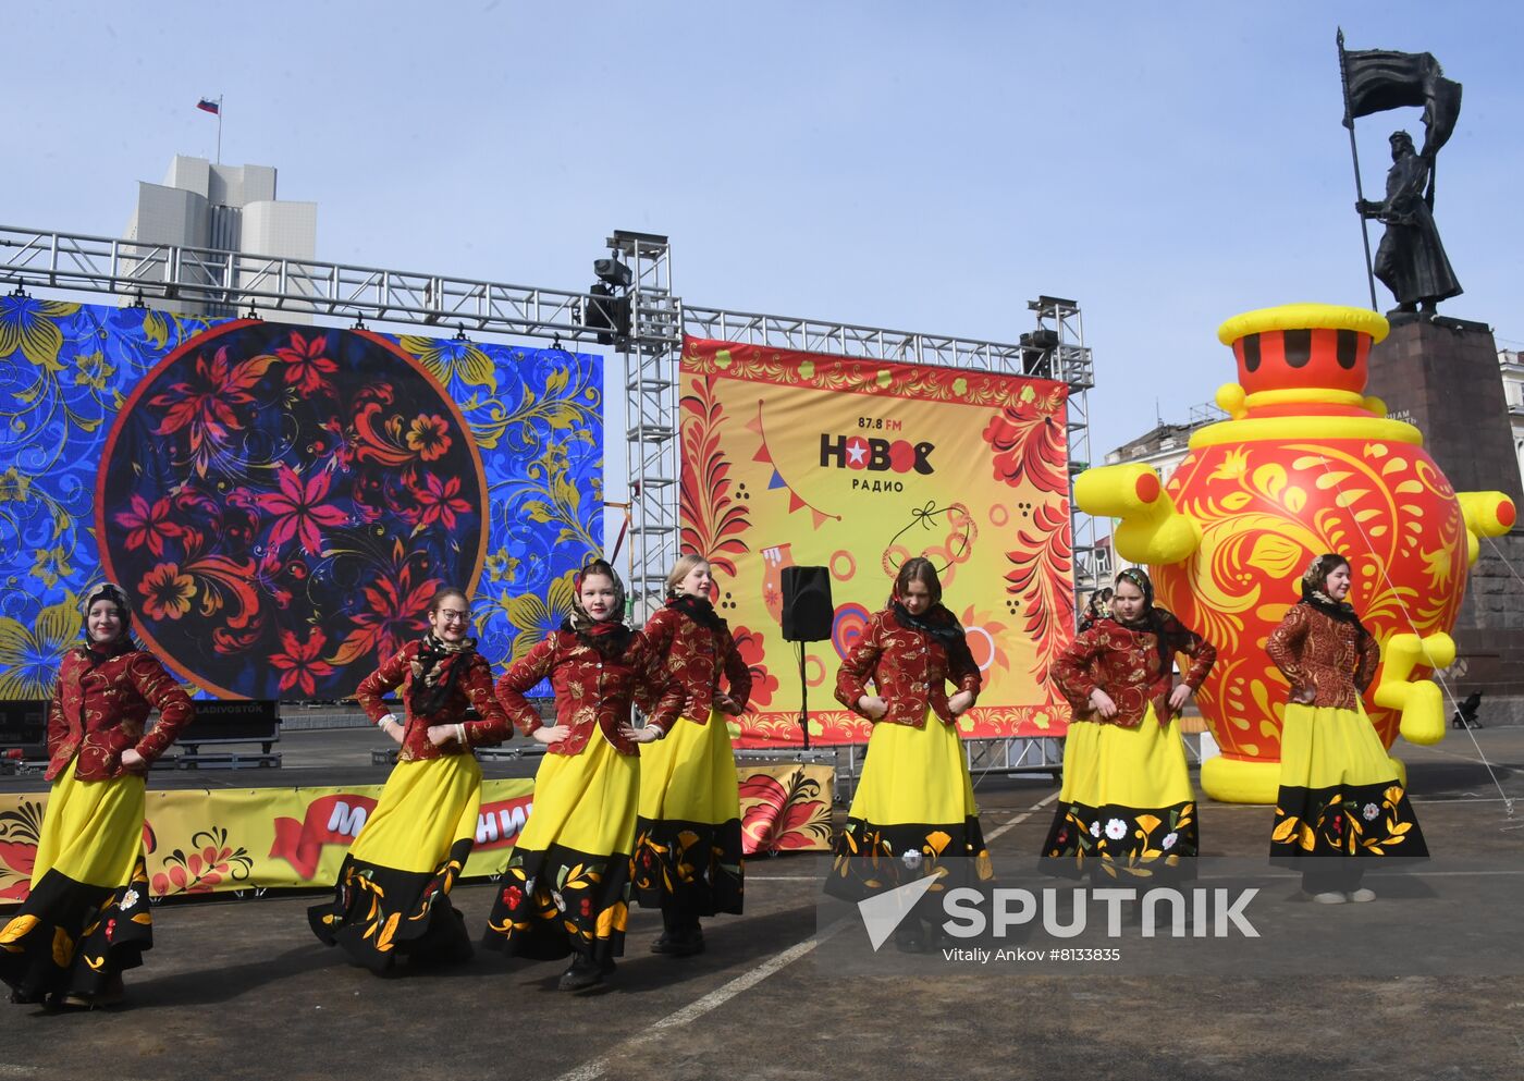
[{"label": "red embroidered jacket on the second dancer from the right", "polygon": [[[1090,630],[1081,631],[1074,640],[1049,666],[1049,678],[1074,707],[1076,721],[1097,721],[1135,729],[1143,723],[1152,703],[1160,724],[1173,717],[1169,707],[1169,692],[1173,675],[1170,662],[1177,653],[1190,656],[1190,668],[1184,682],[1192,691],[1201,686],[1218,659],[1218,650],[1195,631],[1158,610],[1164,622],[1169,659],[1161,663],[1158,636],[1154,631],[1138,631],[1123,627],[1114,619],[1097,619]],[[1090,706],[1090,692],[1105,691],[1116,703],[1114,717],[1102,717]]]}]

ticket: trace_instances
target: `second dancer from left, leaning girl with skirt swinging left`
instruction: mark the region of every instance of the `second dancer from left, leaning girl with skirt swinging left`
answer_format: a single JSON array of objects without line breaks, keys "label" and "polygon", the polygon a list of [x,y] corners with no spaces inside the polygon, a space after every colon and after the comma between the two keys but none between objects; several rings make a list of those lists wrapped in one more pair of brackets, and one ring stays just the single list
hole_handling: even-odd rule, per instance
[{"label": "second dancer from left, leaning girl with skirt swinging left", "polygon": [[[482,805],[482,767],[471,749],[501,743],[512,729],[469,627],[466,595],[439,590],[428,602],[428,633],[355,689],[360,707],[402,749],[338,869],[334,900],[308,909],[308,921],[319,939],[376,973],[399,954],[415,964],[471,956],[465,919],[450,903]],[[381,701],[398,686],[402,718]],[[480,720],[468,721],[468,707]]]}]

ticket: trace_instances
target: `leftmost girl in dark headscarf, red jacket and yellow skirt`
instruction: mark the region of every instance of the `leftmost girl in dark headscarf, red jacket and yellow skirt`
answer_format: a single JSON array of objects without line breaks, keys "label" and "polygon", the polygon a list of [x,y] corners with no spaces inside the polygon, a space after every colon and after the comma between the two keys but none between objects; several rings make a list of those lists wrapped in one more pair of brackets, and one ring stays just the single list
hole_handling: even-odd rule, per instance
[{"label": "leftmost girl in dark headscarf, red jacket and yellow skirt", "polygon": [[[143,776],[192,717],[186,692],[128,636],[119,585],[85,593],[85,643],[47,703],[47,810],[21,910],[0,924],[11,1002],[104,1006],[154,944],[143,864]],[[158,723],[148,733],[149,711]]]}]

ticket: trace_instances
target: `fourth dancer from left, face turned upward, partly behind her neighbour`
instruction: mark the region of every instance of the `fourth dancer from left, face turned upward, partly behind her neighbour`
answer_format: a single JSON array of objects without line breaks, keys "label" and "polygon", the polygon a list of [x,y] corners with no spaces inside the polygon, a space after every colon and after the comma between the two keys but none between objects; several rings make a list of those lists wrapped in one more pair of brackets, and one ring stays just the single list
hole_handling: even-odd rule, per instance
[{"label": "fourth dancer from left, face turned upward, partly behind her neighbour", "polygon": [[[678,956],[704,948],[700,916],[739,915],[742,900],[741,791],[725,717],[745,711],[751,669],[709,598],[709,561],[684,555],[668,575],[666,607],[645,630],[684,706],[666,738],[640,752],[634,892],[661,907],[651,950]],[[649,698],[640,706],[651,712]]]}]

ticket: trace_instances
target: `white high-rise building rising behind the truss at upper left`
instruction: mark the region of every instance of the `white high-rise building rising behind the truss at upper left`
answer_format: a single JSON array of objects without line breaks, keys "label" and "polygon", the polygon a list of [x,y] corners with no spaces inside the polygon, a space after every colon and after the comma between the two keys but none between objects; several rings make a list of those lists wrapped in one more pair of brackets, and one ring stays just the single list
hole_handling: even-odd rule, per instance
[{"label": "white high-rise building rising behind the truss at upper left", "polygon": [[[219,165],[204,157],[177,154],[162,184],[140,181],[137,207],[123,239],[137,241],[131,252],[140,261],[134,277],[143,293],[165,296],[148,285],[165,277],[165,256],[155,245],[238,252],[251,256],[314,259],[317,256],[317,203],[276,198],[276,169],[270,165]],[[181,281],[200,271],[209,287],[226,284],[233,273],[215,256],[192,256],[195,267],[181,265]],[[258,268],[238,271],[239,285],[250,284]],[[227,305],[175,297],[180,311],[233,314]],[[287,322],[309,322],[282,314]]]}]

